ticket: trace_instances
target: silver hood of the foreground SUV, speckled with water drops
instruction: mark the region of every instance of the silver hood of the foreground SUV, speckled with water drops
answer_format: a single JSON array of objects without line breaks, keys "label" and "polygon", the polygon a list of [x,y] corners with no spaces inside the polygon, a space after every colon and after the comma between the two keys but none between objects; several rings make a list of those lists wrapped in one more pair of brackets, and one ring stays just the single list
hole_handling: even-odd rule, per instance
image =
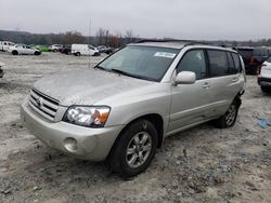
[{"label": "silver hood of the foreground SUV, speckled with water drops", "polygon": [[132,91],[151,83],[153,82],[99,69],[80,69],[44,77],[37,81],[34,87],[57,99],[62,106],[70,106],[93,105],[106,97]]}]

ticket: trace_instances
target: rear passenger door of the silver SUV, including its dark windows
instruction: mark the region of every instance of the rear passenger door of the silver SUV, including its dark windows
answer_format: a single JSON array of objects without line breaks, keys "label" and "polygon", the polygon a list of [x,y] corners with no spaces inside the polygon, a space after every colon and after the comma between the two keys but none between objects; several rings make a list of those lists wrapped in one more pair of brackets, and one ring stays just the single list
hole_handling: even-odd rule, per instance
[{"label": "rear passenger door of the silver SUV, including its dark windows", "polygon": [[211,79],[210,111],[208,117],[223,114],[233,98],[243,87],[240,57],[235,53],[222,50],[207,50],[209,78]]}]

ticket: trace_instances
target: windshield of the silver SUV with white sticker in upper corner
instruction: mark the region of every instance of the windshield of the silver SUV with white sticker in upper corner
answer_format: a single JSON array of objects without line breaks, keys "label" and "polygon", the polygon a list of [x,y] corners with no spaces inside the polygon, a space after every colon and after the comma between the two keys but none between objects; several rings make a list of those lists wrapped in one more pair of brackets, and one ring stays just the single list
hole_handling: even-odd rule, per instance
[{"label": "windshield of the silver SUV with white sticker in upper corner", "polygon": [[180,50],[128,45],[113,54],[98,68],[151,81],[160,81]]}]

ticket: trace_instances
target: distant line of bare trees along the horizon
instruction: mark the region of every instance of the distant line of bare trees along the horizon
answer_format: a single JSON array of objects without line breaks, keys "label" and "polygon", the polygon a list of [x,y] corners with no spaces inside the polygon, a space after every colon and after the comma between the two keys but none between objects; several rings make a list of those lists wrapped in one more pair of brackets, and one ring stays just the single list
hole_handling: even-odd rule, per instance
[{"label": "distant line of bare trees along the horizon", "polygon": [[[30,33],[25,31],[0,30],[0,41],[12,41],[25,44],[72,44],[72,43],[89,43],[92,45],[107,45],[119,48],[127,43],[139,41],[141,38],[133,32],[132,29],[126,30],[124,33],[112,33],[108,29],[100,28],[95,36],[86,37],[79,31],[66,31],[61,33]],[[165,38],[169,39],[169,38]],[[257,41],[205,41],[212,44],[225,46],[271,46],[271,39],[261,39]]]}]

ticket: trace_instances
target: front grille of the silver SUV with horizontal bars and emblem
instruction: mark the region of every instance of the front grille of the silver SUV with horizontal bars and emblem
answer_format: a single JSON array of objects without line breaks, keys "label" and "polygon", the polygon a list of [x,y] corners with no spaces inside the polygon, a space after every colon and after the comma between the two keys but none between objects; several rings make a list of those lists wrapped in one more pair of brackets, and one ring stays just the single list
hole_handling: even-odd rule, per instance
[{"label": "front grille of the silver SUV with horizontal bars and emblem", "polygon": [[50,121],[54,120],[60,106],[59,100],[51,98],[35,89],[30,91],[28,104],[36,112]]}]

